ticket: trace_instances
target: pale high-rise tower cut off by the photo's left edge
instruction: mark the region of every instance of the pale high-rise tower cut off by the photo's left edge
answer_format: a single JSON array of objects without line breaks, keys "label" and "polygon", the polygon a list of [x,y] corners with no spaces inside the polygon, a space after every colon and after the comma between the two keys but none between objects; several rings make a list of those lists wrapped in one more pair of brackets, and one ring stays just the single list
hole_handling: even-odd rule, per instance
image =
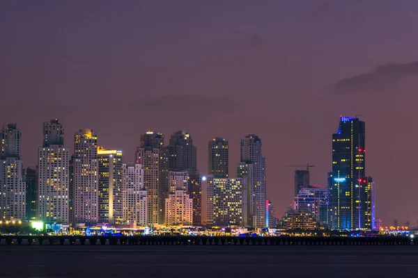
[{"label": "pale high-rise tower cut off by the photo's left edge", "polygon": [[1,130],[0,220],[26,218],[26,183],[20,154],[20,130],[8,124]]}]

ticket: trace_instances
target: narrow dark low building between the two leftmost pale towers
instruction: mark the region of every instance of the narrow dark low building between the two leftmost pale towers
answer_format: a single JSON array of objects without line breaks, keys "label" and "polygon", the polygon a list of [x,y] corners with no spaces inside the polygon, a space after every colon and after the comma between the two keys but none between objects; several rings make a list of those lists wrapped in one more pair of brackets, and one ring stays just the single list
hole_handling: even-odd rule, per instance
[{"label": "narrow dark low building between the two leftmost pale towers", "polygon": [[27,167],[26,175],[26,219],[35,220],[38,216],[38,167]]}]

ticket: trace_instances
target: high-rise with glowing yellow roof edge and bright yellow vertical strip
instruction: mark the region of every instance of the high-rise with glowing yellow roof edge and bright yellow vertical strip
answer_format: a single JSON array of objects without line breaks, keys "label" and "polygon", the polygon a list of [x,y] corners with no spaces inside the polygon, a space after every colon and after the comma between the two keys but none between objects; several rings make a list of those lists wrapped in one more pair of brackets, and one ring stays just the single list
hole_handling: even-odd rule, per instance
[{"label": "high-rise with glowing yellow roof edge and bright yellow vertical strip", "polygon": [[98,147],[98,217],[101,223],[123,220],[122,151]]}]

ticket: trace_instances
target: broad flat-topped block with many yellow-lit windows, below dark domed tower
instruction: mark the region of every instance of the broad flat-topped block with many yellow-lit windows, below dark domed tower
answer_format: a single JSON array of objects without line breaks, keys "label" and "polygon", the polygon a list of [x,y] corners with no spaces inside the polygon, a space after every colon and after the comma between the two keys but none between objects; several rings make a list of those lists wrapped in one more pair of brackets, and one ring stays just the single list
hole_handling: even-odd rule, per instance
[{"label": "broad flat-topped block with many yellow-lit windows, below dark domed tower", "polygon": [[242,226],[242,179],[213,179],[213,224]]}]

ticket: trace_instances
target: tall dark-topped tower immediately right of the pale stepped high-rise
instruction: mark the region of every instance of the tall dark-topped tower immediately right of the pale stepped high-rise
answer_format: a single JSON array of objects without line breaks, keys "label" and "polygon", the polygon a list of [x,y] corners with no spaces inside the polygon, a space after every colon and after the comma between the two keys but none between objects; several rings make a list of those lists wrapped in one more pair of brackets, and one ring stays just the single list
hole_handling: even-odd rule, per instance
[{"label": "tall dark-topped tower immediately right of the pale stepped high-rise", "polygon": [[144,186],[147,191],[147,221],[148,225],[162,224],[164,221],[164,196],[168,195],[167,185],[161,180],[167,175],[162,172],[162,149],[164,136],[162,133],[147,131],[141,136],[141,144],[135,152],[135,161],[144,167]]}]

